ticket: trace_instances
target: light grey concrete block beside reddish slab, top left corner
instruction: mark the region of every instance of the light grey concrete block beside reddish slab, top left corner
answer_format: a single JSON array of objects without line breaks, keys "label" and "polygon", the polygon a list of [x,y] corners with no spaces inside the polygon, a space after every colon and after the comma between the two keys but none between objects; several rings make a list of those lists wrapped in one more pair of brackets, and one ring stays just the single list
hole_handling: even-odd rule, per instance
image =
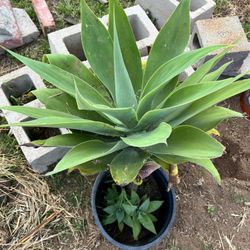
[{"label": "light grey concrete block beside reddish slab, top left corner", "polygon": [[27,44],[36,40],[40,35],[40,32],[28,13],[25,10],[18,8],[14,8],[13,11],[22,34],[23,43]]}]

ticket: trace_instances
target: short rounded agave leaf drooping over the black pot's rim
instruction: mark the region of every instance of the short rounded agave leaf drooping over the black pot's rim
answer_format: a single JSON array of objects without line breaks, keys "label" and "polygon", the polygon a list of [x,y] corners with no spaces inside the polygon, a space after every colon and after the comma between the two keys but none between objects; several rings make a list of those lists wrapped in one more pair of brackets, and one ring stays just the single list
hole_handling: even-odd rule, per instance
[{"label": "short rounded agave leaf drooping over the black pot's rim", "polygon": [[133,148],[125,148],[110,163],[110,172],[118,185],[131,183],[147,160],[147,155]]}]

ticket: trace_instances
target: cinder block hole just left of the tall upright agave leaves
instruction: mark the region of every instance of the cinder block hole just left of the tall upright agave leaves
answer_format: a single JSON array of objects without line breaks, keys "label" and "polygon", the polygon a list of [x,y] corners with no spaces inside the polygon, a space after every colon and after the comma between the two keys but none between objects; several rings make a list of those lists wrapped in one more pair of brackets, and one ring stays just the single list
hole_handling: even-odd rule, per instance
[{"label": "cinder block hole just left of the tall upright agave leaves", "polygon": [[67,36],[63,39],[63,42],[68,49],[70,54],[75,55],[81,61],[86,61],[87,58],[84,54],[82,43],[81,43],[81,33],[76,33],[74,35]]}]

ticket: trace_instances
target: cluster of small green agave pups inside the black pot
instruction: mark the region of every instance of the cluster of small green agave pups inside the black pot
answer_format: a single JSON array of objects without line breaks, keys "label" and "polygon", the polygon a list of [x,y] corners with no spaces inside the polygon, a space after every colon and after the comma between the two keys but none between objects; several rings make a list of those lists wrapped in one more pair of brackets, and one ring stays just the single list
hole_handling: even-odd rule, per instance
[{"label": "cluster of small green agave pups inside the black pot", "polygon": [[132,229],[135,240],[138,239],[142,227],[156,234],[154,222],[157,218],[152,213],[161,207],[163,201],[150,201],[147,195],[140,198],[134,190],[128,195],[125,188],[118,191],[115,185],[108,188],[104,199],[107,206],[103,211],[107,215],[103,218],[103,225],[117,222],[121,232],[127,225]]}]

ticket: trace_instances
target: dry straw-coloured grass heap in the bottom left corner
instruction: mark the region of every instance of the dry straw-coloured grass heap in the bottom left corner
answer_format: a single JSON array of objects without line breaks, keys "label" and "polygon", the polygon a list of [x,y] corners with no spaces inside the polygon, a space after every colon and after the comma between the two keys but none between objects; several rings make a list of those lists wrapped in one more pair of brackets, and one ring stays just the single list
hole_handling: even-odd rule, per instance
[{"label": "dry straw-coloured grass heap in the bottom left corner", "polygon": [[15,165],[15,160],[0,155],[0,248],[69,249],[65,244],[70,239],[72,249],[80,249],[85,208],[52,194],[24,162]]}]

